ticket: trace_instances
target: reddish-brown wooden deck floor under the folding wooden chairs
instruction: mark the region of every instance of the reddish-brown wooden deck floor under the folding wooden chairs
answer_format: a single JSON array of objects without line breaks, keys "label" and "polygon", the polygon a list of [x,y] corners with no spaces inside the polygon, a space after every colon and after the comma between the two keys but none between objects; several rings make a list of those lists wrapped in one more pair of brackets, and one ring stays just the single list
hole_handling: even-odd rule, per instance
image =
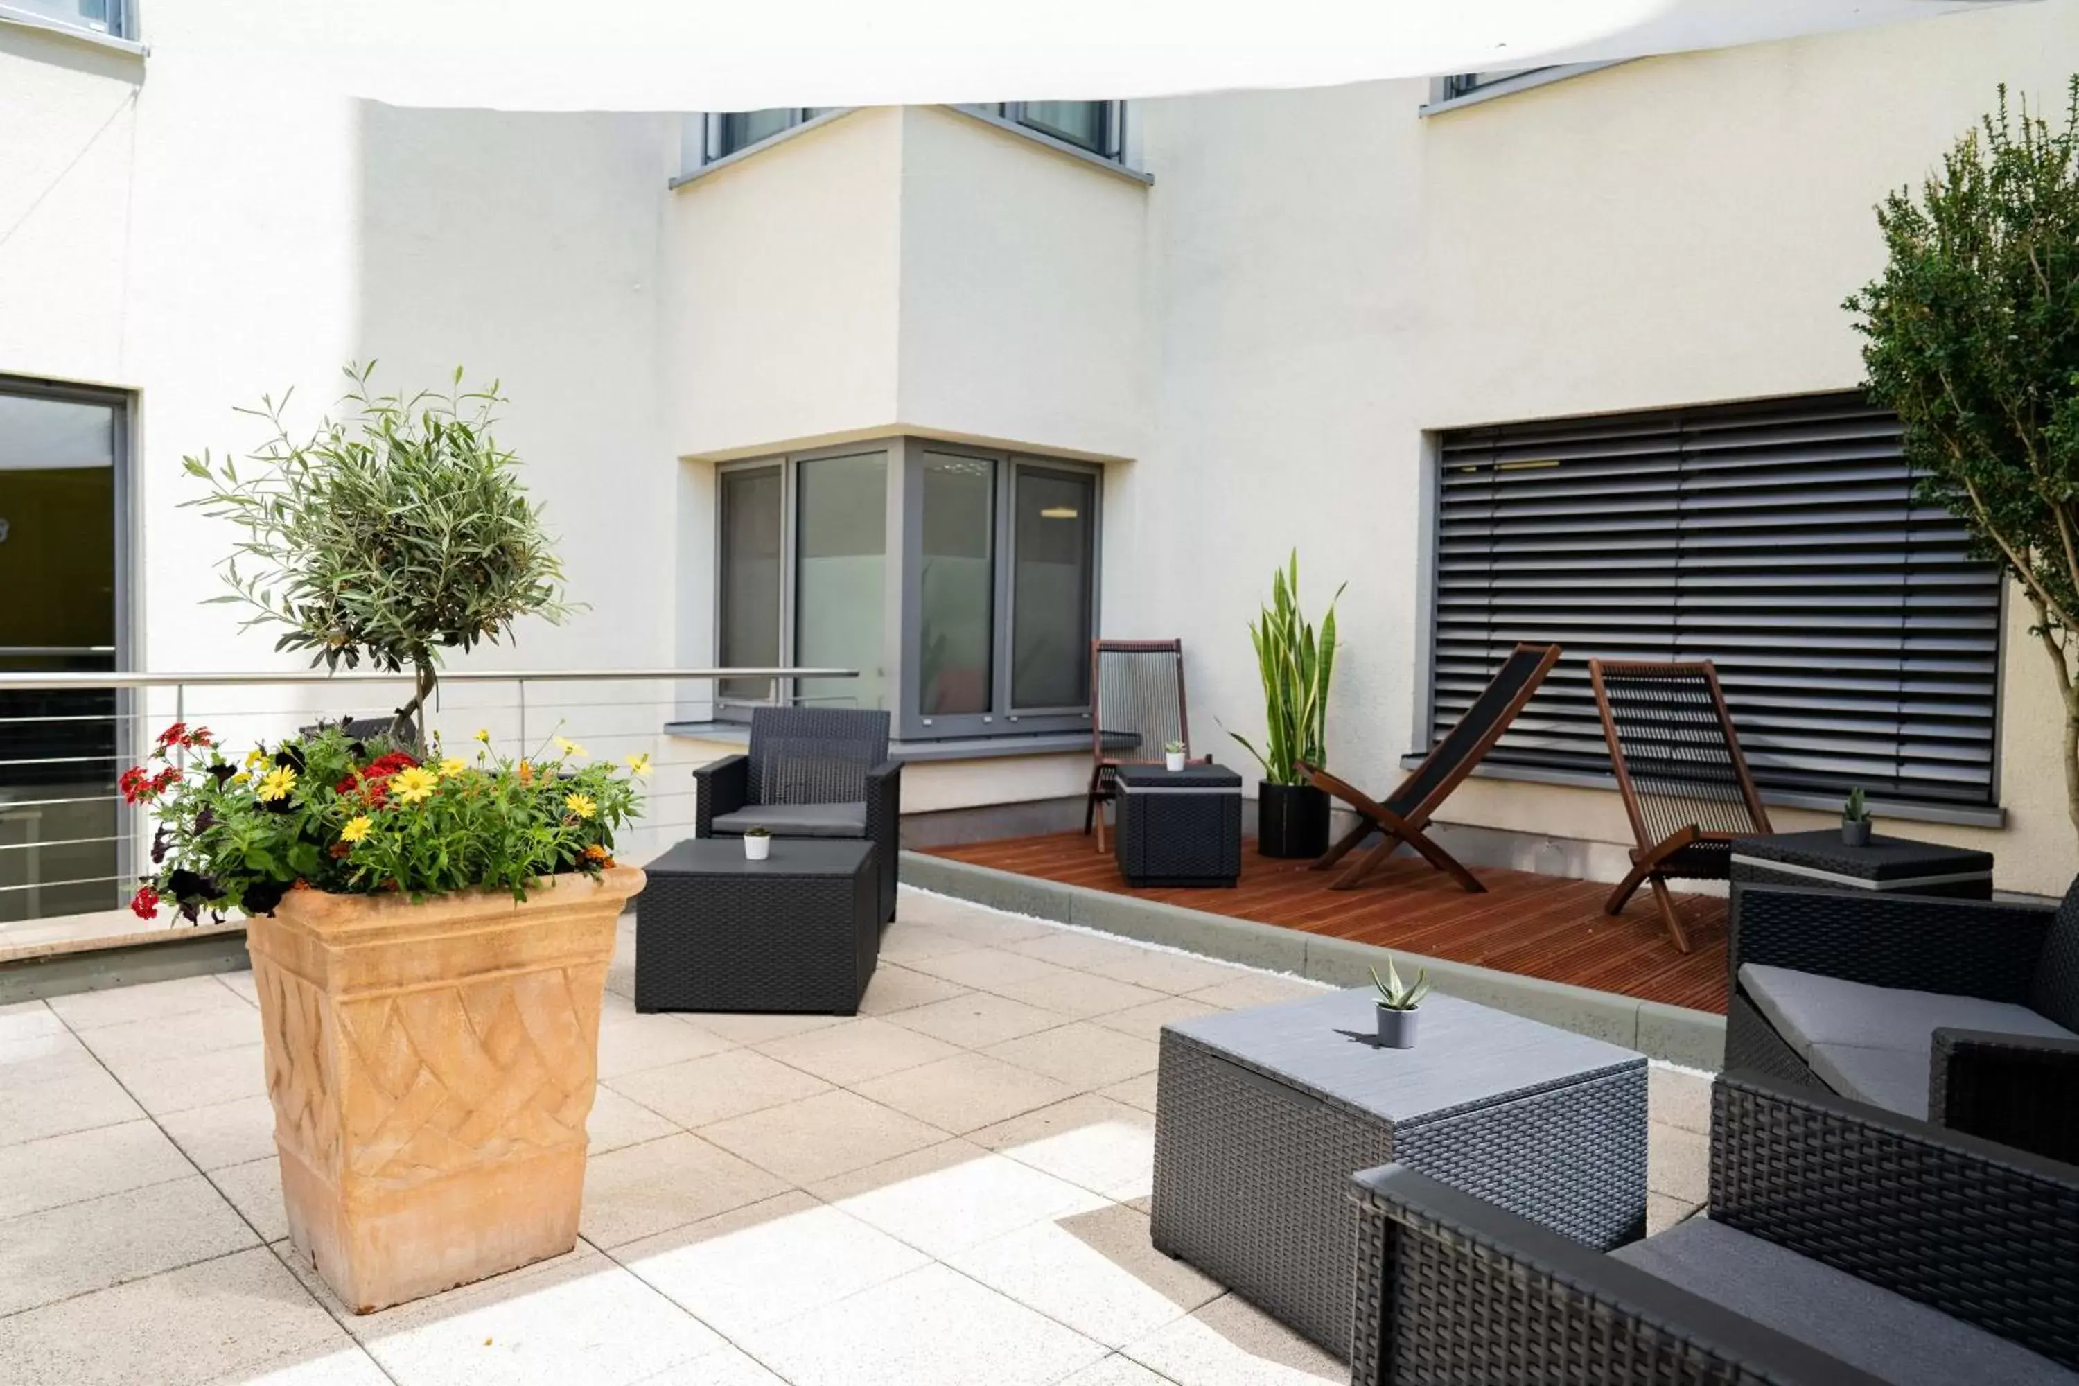
[{"label": "reddish-brown wooden deck floor under the folding wooden chairs", "polygon": [[1096,839],[1081,833],[1010,837],[933,856],[1019,875],[1146,896],[1193,910],[1326,933],[1430,958],[1543,977],[1634,995],[1642,1002],[1726,1010],[1726,902],[1678,896],[1692,950],[1676,952],[1647,891],[1624,914],[1603,914],[1607,885],[1528,871],[1476,869],[1486,894],[1472,896],[1418,858],[1393,860],[1353,891],[1331,891],[1331,875],[1241,848],[1235,889],[1131,889]]}]

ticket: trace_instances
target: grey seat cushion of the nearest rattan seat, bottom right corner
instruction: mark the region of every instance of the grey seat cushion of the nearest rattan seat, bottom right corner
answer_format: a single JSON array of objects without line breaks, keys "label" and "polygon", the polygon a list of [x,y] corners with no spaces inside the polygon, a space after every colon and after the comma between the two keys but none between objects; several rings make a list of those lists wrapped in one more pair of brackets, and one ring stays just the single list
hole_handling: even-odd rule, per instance
[{"label": "grey seat cushion of the nearest rattan seat, bottom right corner", "polygon": [[1709,1218],[1611,1255],[1900,1386],[2079,1382],[2079,1374],[1998,1334]]}]

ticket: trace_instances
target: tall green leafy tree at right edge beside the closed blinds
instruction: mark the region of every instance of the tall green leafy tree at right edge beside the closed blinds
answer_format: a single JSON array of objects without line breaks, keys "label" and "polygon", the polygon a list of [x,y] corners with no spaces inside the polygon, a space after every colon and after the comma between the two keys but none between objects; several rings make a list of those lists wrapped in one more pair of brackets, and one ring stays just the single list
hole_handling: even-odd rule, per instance
[{"label": "tall green leafy tree at right edge beside the closed blinds", "polygon": [[1884,274],[1848,297],[1871,397],[1923,501],[1956,513],[2035,611],[2064,700],[2079,827],[2079,77],[2062,127],[2027,106],[1967,131],[1919,197],[1877,208]]}]

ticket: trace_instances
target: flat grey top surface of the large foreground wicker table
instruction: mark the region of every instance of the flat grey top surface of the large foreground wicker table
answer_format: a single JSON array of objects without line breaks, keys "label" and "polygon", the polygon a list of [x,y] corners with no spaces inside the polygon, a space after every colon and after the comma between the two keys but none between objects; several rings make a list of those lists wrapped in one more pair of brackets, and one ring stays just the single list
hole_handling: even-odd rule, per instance
[{"label": "flat grey top surface of the large foreground wicker table", "polygon": [[1412,1049],[1378,1047],[1370,987],[1227,1010],[1162,1027],[1324,1101],[1414,1124],[1582,1078],[1642,1068],[1601,1039],[1449,995],[1422,1002]]}]

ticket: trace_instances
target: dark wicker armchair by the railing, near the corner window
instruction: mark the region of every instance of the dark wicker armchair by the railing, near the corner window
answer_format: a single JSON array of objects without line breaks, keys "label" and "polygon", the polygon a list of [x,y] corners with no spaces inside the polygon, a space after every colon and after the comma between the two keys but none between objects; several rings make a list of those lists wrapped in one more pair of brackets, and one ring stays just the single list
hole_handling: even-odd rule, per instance
[{"label": "dark wicker armchair by the railing, near the corner window", "polygon": [[888,713],[761,707],[748,754],[692,773],[696,837],[865,837],[873,844],[881,921],[896,916],[902,765],[888,758]]}]

